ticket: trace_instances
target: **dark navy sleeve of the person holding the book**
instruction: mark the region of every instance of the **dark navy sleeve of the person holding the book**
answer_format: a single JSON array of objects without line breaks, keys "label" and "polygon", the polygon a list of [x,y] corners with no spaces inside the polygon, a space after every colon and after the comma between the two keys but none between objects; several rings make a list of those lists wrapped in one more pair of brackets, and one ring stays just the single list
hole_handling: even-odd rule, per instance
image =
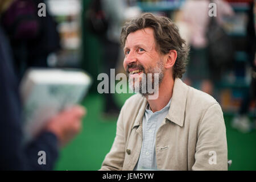
[{"label": "dark navy sleeve of the person holding the book", "polygon": [[[42,133],[27,146],[22,144],[22,117],[18,82],[11,49],[0,27],[0,170],[52,169],[57,160],[57,139]],[[46,152],[46,165],[38,164],[38,152]]]}]

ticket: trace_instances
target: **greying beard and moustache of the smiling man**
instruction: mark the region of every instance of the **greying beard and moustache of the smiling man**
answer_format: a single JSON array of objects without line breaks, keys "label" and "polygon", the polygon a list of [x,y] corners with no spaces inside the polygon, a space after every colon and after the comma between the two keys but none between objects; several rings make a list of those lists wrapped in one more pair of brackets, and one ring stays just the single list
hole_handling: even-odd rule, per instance
[{"label": "greying beard and moustache of the smiling man", "polygon": [[[142,69],[141,75],[135,78],[130,78],[129,68]],[[144,74],[143,74],[144,73]],[[164,64],[159,60],[155,68],[144,69],[142,65],[131,64],[126,69],[126,75],[129,78],[129,88],[135,93],[140,93],[142,96],[150,96],[158,92],[159,86],[164,77]]]}]

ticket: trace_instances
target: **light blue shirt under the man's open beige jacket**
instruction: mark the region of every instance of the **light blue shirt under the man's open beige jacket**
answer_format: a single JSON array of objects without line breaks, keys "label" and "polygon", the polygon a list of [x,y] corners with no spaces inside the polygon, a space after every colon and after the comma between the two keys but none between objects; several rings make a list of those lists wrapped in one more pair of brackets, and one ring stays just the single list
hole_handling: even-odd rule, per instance
[{"label": "light blue shirt under the man's open beige jacket", "polygon": [[157,169],[155,155],[156,133],[168,114],[171,99],[168,104],[161,110],[153,113],[147,104],[142,121],[142,148],[139,160],[134,170]]}]

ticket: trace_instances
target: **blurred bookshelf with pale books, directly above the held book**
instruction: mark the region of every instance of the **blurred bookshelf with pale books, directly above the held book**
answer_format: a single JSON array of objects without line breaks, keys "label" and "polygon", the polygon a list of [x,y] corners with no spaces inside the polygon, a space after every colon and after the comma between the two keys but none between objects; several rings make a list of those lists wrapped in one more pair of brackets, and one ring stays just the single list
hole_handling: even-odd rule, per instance
[{"label": "blurred bookshelf with pale books, directly above the held book", "polygon": [[81,0],[47,0],[57,23],[61,50],[48,57],[50,67],[79,67],[81,61]]}]

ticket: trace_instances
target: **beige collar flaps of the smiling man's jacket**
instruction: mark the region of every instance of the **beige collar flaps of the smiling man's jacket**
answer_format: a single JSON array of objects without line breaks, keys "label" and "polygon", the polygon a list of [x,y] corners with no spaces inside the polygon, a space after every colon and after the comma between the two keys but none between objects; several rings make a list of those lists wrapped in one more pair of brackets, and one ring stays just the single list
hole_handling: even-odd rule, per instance
[{"label": "beige collar flaps of the smiling man's jacket", "polygon": [[[180,80],[180,78],[175,78],[171,105],[166,116],[166,122],[174,122],[176,125],[179,125],[180,127],[183,126],[185,105],[187,101],[187,92],[188,86],[184,84],[183,81]],[[133,127],[141,125],[147,103],[148,102],[145,97],[142,97],[142,100],[138,102],[138,114],[137,117],[135,118]]]}]

